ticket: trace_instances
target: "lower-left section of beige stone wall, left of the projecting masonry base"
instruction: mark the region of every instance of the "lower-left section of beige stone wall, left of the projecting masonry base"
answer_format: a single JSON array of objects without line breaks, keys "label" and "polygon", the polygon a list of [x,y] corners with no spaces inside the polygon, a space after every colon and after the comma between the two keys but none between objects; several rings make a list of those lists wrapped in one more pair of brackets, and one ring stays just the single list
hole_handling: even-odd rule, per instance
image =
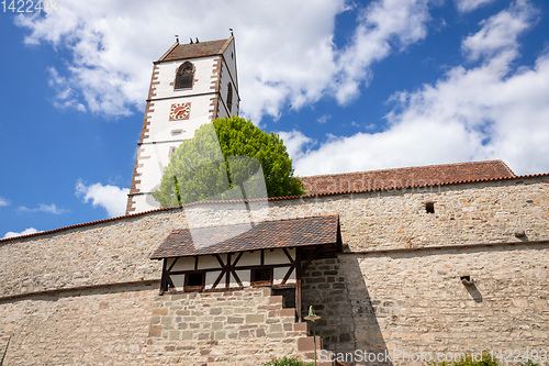
[{"label": "lower-left section of beige stone wall, left of the projecting masonry base", "polygon": [[144,364],[156,286],[126,286],[0,301],[4,365]]}]

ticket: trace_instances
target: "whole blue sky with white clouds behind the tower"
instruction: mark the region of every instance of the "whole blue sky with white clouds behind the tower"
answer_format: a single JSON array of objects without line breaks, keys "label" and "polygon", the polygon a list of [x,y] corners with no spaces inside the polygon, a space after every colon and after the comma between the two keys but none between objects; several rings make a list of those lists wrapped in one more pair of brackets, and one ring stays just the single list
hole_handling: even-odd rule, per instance
[{"label": "whole blue sky with white clouds behind the tower", "polygon": [[175,34],[234,29],[240,114],[280,133],[298,175],[549,171],[546,0],[57,4],[0,13],[0,239],[124,213],[152,63]]}]

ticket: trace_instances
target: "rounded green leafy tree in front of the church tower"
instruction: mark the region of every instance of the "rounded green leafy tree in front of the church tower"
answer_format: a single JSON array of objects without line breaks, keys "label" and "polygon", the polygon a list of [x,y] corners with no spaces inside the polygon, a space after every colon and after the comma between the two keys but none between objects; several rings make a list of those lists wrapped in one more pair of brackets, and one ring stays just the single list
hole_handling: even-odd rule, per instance
[{"label": "rounded green leafy tree in front of the church tower", "polygon": [[[265,184],[264,184],[265,181]],[[238,117],[204,124],[181,143],[153,197],[163,207],[205,199],[303,195],[282,140]],[[239,196],[238,196],[239,195]]]}]

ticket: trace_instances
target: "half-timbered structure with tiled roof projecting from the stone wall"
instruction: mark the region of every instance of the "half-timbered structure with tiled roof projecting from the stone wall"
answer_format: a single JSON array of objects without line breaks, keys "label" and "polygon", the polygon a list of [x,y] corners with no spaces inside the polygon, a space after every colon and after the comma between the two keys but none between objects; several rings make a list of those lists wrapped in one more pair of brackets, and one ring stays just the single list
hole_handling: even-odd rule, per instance
[{"label": "half-timbered structure with tiled roof projecting from the stone wall", "polygon": [[301,274],[313,259],[341,252],[339,217],[264,221],[243,231],[245,225],[198,229],[200,245],[189,229],[175,230],[152,255],[164,260],[160,292],[269,286],[287,290],[280,292],[285,301],[301,309]]}]

